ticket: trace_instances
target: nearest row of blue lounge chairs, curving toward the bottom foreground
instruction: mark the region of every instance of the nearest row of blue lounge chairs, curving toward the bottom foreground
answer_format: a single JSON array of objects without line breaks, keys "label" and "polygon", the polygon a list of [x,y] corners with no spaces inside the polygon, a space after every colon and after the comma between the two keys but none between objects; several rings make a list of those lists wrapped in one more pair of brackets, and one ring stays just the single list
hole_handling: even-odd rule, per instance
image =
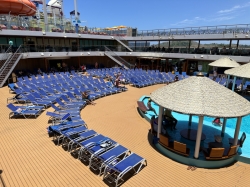
[{"label": "nearest row of blue lounge chairs, curving toward the bottom foreground", "polygon": [[[68,103],[75,105],[75,102]],[[54,106],[52,105],[54,108]],[[56,108],[55,108],[56,109]],[[132,153],[116,141],[92,129],[87,128],[87,124],[77,117],[75,107],[72,110],[56,109],[55,112],[47,112],[52,125],[49,126],[49,134],[53,136],[57,145],[62,145],[73,156],[89,165],[89,168],[103,174],[103,179],[118,186],[123,181],[123,176],[134,171],[137,174],[146,160],[139,155]],[[76,114],[77,115],[77,114]]]}]

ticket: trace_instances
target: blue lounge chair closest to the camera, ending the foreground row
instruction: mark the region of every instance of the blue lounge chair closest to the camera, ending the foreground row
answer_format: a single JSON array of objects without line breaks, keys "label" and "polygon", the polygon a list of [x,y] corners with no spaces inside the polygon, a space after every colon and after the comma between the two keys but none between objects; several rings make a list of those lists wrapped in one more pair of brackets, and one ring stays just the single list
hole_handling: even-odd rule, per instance
[{"label": "blue lounge chair closest to the camera, ending the foreground row", "polygon": [[[135,174],[139,173],[144,163],[147,165],[147,161],[135,153],[131,153],[121,161],[113,160],[105,167],[103,179],[106,179],[109,183],[115,182],[115,186],[118,186],[120,185],[119,180],[121,180],[126,173],[132,169]],[[135,168],[136,166],[139,166],[137,170]]]}]

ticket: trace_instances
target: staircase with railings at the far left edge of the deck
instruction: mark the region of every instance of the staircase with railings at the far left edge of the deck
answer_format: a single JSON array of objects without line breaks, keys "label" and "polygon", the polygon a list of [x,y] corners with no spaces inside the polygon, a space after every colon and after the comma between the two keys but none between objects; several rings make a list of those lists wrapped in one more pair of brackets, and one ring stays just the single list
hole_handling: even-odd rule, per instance
[{"label": "staircase with railings at the far left edge of the deck", "polygon": [[21,49],[22,48],[20,45],[19,48],[16,50],[16,52],[14,54],[10,55],[6,59],[4,64],[2,65],[2,67],[0,69],[0,88],[3,87],[4,83],[6,82],[8,77],[10,76],[11,72],[13,71],[13,69],[16,67],[17,63],[21,59],[21,57],[22,57],[22,53],[20,53]]}]

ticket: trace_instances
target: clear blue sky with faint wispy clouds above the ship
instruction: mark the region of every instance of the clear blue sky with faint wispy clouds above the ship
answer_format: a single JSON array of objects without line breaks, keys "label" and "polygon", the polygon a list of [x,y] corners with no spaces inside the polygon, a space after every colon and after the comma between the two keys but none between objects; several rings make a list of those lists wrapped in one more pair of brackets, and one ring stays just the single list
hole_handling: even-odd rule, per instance
[{"label": "clear blue sky with faint wispy clouds above the ship", "polygon": [[[65,15],[74,10],[73,0],[63,0]],[[48,0],[47,0],[48,2]],[[138,30],[250,23],[249,0],[78,0],[81,25]]]}]

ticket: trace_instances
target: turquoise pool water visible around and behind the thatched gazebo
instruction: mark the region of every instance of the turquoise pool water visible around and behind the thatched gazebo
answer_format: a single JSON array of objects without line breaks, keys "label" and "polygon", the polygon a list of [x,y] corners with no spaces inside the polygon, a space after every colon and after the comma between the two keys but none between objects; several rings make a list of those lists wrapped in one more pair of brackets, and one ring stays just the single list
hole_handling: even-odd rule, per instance
[{"label": "turquoise pool water visible around and behind the thatched gazebo", "polygon": [[[147,101],[148,101],[147,98],[148,98],[148,96],[142,96],[140,98],[140,101],[143,101],[146,106],[147,106]],[[158,113],[159,106],[157,104],[155,104],[154,102],[152,102],[151,105],[156,110],[156,112]],[[177,112],[173,112],[172,114],[178,121],[186,121],[187,122],[189,120],[189,115],[180,114],[180,113],[177,113]],[[153,115],[155,115],[154,112],[148,111],[147,114],[146,114],[146,117],[148,119],[151,119],[151,117]],[[198,116],[193,116],[192,117],[192,123],[196,123],[196,125],[197,125],[198,124],[198,119],[199,119]],[[205,133],[214,133],[215,130],[217,130],[217,132],[221,132],[222,127],[213,125],[212,124],[213,120],[214,120],[213,117],[204,117],[203,131],[206,131],[206,130],[210,131],[210,132],[206,131]],[[237,122],[237,118],[227,119],[226,129],[225,129],[225,133],[227,134],[227,136],[225,136],[224,138],[234,137],[236,122]],[[250,125],[250,115],[245,116],[245,117],[242,118],[240,133],[239,133],[239,138],[241,137],[243,132],[246,133],[247,138],[246,138],[246,140],[245,140],[245,142],[243,144],[243,147],[240,148],[239,151],[238,151],[240,156],[246,157],[246,158],[250,158],[250,126],[249,125]],[[228,140],[226,139],[225,142],[228,142]]]}]

